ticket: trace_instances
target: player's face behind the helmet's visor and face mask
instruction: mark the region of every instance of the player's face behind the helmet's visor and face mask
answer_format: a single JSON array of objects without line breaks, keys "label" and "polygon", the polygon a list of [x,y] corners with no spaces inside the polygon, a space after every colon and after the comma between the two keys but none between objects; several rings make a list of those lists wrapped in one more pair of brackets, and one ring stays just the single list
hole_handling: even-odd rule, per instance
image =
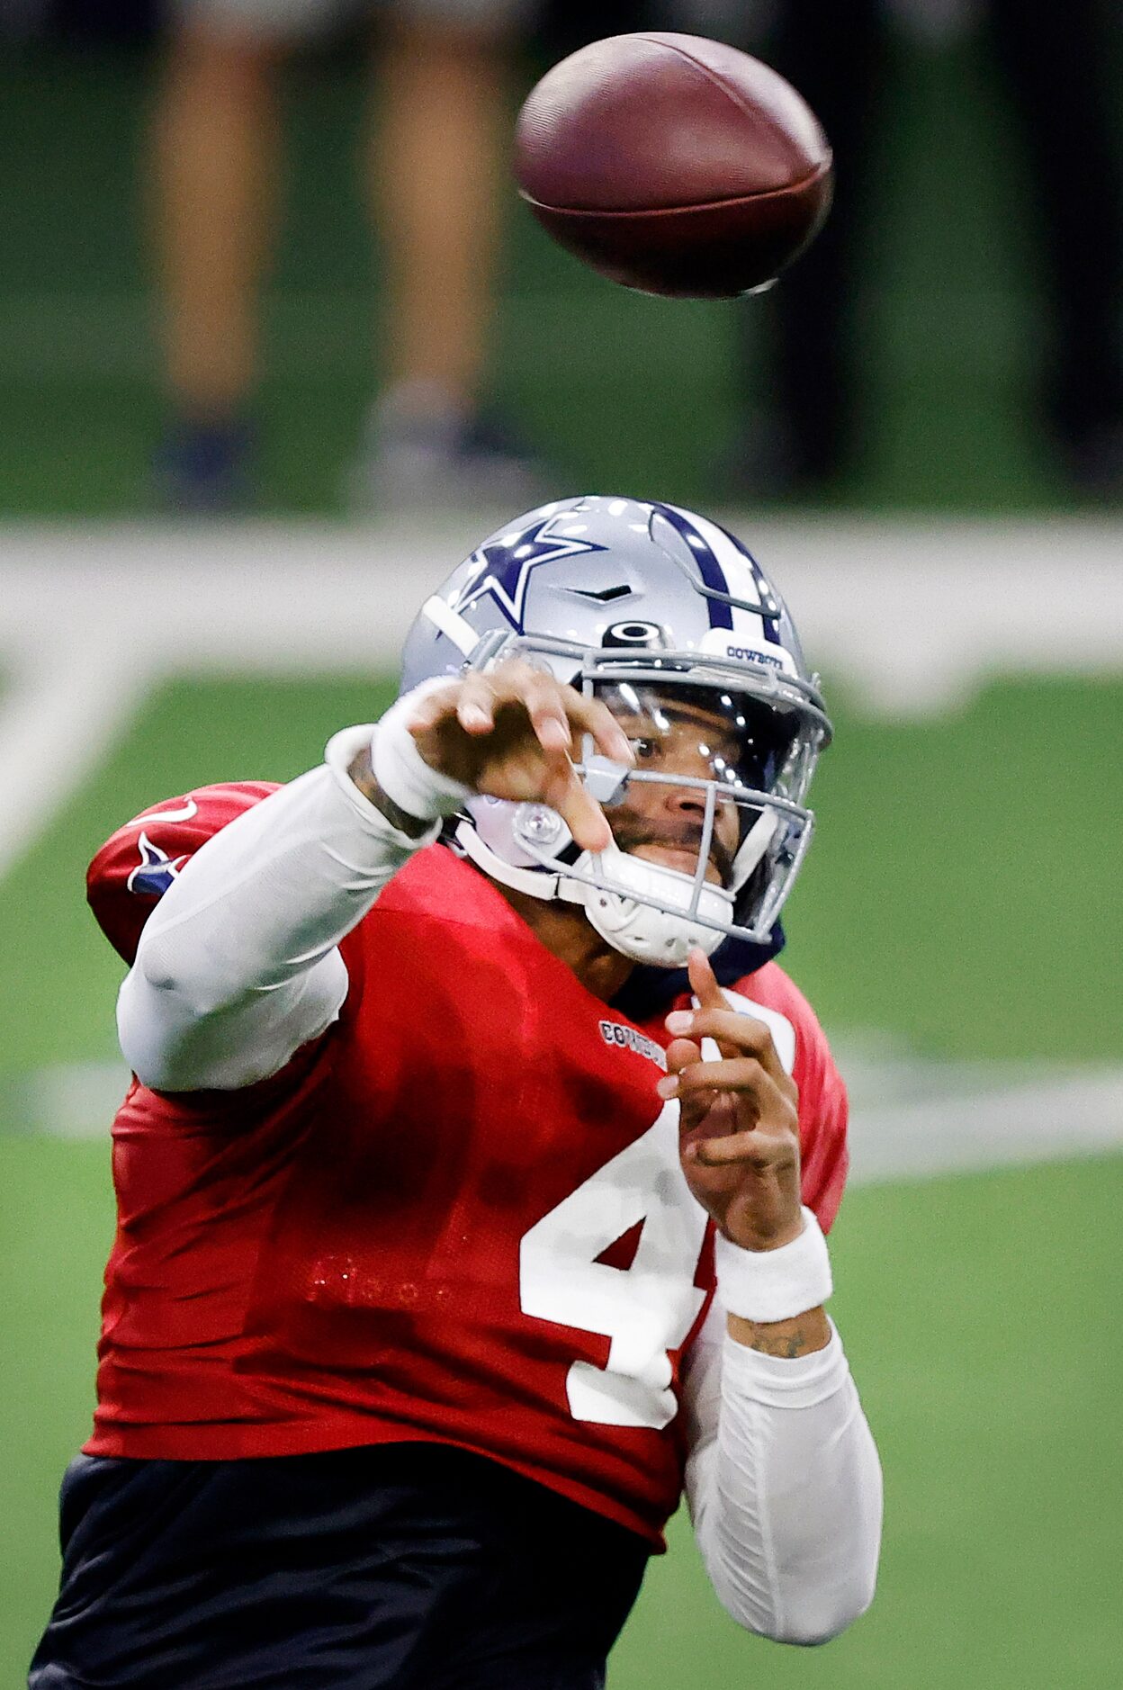
[{"label": "player's face behind the helmet's visor and face mask", "polygon": [[[630,781],[623,803],[606,810],[616,845],[648,862],[694,874],[706,791],[699,786],[677,786],[674,776],[758,786],[760,771],[753,766],[745,715],[731,700],[709,708],[686,690],[657,693],[652,688],[621,684],[603,696],[632,742],[637,771],[660,776],[659,781]],[[718,798],[706,864],[706,879],[714,886],[731,882],[745,816],[745,808],[738,808],[731,798]]]}]

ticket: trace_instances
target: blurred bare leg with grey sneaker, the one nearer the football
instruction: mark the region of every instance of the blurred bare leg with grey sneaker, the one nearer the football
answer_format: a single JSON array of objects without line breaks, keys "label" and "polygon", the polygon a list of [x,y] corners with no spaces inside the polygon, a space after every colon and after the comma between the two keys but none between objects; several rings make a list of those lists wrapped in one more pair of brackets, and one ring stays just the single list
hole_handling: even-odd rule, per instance
[{"label": "blurred bare leg with grey sneaker, the one nearer the football", "polygon": [[370,196],[383,240],[383,368],[353,502],[532,502],[540,477],[483,406],[508,51],[532,0],[385,0]]}]

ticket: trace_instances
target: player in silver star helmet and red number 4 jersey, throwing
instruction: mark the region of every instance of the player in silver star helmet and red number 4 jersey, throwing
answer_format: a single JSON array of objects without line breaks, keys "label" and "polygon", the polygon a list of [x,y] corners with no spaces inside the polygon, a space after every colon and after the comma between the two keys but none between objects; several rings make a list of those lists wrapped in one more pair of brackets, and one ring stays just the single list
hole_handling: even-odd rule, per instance
[{"label": "player in silver star helmet and red number 4 jersey, throwing", "polygon": [[748,1631],[868,1607],[846,1093],[775,962],[829,735],[740,541],[569,499],[382,722],[98,852],[135,1078],[34,1690],[594,1690],[682,1494]]}]

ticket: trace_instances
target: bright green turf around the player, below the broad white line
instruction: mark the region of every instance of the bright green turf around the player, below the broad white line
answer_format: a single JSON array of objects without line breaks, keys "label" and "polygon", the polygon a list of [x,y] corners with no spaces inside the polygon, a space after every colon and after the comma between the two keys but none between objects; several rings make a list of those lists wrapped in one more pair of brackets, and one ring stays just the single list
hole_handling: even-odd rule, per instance
[{"label": "bright green turf around the player, below the broad white line", "polygon": [[[0,973],[8,1075],[111,1053],[120,967],[81,897],[103,835],[208,779],[289,777],[385,696],[341,676],[184,679],[150,700],[0,882],[20,963]],[[936,1056],[1118,1060],[1123,681],[1008,679],[912,723],[844,701],[834,715],[789,921],[790,968],[827,1028]],[[56,1577],[54,1489],[90,1418],[111,1202],[100,1141],[8,1131],[0,1151],[0,1682],[15,1685]],[[831,1690],[1116,1685],[1121,1183],[1123,1158],[1104,1156],[854,1190],[834,1313],[887,1469],[878,1604],[826,1651],[746,1639],[679,1519],[613,1690],[724,1690],[740,1673]]]}]

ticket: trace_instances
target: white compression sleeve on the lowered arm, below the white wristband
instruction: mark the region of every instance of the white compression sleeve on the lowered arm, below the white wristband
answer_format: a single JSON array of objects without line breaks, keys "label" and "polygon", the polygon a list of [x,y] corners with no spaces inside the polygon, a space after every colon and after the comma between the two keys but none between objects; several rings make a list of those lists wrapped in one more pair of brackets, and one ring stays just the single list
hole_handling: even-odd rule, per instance
[{"label": "white compression sleeve on the lowered arm, below the white wristband", "polygon": [[711,1310],[686,1381],[686,1489],[723,1607],[777,1643],[826,1643],[873,1600],[882,1467],[838,1332],[785,1360]]}]

